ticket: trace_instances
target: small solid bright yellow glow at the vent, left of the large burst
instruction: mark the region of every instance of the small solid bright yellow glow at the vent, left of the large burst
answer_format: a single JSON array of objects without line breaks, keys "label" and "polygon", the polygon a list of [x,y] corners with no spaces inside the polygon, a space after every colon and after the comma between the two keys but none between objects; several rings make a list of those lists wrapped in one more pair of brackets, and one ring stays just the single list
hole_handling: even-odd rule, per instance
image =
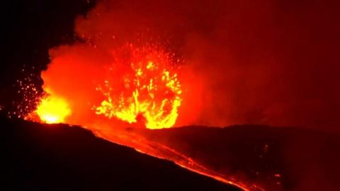
[{"label": "small solid bright yellow glow at the vent, left of the large burst", "polygon": [[48,124],[65,122],[65,118],[71,114],[67,102],[54,96],[42,98],[35,112],[42,122]]}]

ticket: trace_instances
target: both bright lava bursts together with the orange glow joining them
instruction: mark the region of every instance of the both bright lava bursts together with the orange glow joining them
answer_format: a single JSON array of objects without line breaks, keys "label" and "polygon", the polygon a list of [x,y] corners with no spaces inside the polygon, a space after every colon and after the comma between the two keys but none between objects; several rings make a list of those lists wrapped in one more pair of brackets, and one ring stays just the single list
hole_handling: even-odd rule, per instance
[{"label": "both bright lava bursts together with the orange glow joining them", "polygon": [[[91,63],[92,68],[88,68],[81,63],[83,59],[70,60],[69,54],[86,57],[77,48],[73,50],[74,53],[55,57],[42,73],[46,96],[28,118],[87,127],[83,116],[98,120],[102,115],[134,127],[159,129],[175,125],[182,89],[177,72],[180,63],[173,54],[160,46],[137,47],[129,43],[108,51],[108,64]],[[70,65],[79,68],[74,72],[66,68]],[[90,76],[91,80],[85,79]]]}]

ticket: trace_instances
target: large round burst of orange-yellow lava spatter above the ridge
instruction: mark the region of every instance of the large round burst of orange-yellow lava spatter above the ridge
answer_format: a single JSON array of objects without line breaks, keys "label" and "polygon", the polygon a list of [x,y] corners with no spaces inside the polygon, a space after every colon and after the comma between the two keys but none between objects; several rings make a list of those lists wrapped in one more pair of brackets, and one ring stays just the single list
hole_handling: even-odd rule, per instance
[{"label": "large round burst of orange-yellow lava spatter above the ridge", "polygon": [[[130,58],[122,59],[120,51],[128,52]],[[106,99],[96,107],[96,114],[130,124],[142,122],[149,129],[172,127],[182,91],[169,54],[155,47],[132,45],[113,54],[111,78],[97,88]]]}]

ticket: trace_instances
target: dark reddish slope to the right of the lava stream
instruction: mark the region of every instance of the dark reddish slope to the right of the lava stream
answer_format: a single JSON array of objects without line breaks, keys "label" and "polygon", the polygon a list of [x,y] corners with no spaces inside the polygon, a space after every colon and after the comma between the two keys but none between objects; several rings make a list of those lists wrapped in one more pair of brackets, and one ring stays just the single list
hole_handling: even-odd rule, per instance
[{"label": "dark reddish slope to the right of the lava stream", "polygon": [[340,190],[340,134],[259,125],[139,132],[211,170],[266,190]]}]

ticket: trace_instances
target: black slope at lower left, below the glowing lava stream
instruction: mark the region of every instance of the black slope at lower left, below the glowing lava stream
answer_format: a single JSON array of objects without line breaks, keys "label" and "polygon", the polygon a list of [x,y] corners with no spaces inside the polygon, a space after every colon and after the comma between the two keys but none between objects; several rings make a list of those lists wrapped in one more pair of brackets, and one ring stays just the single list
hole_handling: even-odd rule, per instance
[{"label": "black slope at lower left, below the glowing lava stream", "polygon": [[238,190],[79,127],[0,123],[5,190]]}]

